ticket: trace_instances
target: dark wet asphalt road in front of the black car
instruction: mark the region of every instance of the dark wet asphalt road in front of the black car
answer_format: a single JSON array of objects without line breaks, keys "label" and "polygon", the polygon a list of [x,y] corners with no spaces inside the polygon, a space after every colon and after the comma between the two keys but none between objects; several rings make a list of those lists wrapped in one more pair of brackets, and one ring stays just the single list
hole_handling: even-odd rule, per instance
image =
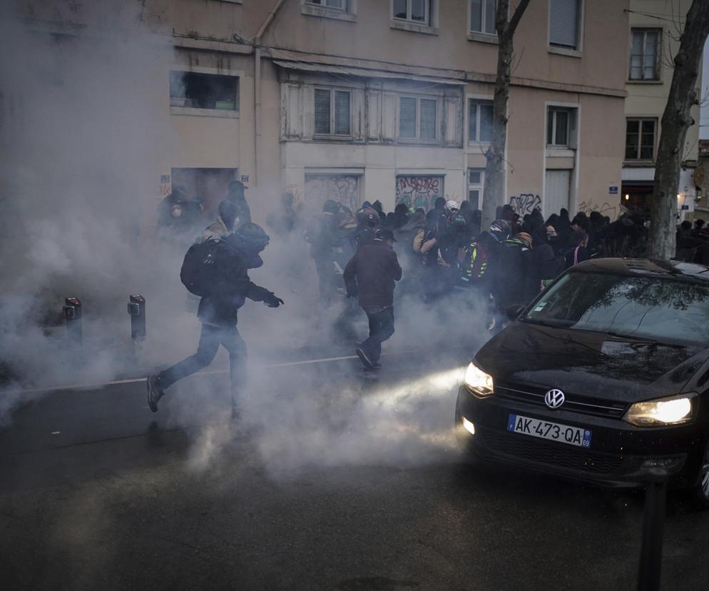
[{"label": "dark wet asphalt road in front of the black car", "polygon": [[[248,428],[225,373],[157,415],[141,381],[46,393],[0,431],[1,588],[634,589],[642,493],[461,463],[466,356],[274,363]],[[664,589],[709,589],[709,512],[670,497],[664,547]]]}]

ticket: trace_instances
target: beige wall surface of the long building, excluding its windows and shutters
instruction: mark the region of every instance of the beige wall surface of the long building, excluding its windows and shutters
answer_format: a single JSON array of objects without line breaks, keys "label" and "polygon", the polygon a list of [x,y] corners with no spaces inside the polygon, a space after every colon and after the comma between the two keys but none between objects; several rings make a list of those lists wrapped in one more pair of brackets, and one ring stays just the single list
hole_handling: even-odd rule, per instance
[{"label": "beige wall surface of the long building, excluding its windows and shutters", "polygon": [[[466,98],[491,97],[497,47],[469,41],[469,3],[437,1],[438,34],[429,35],[392,29],[388,0],[357,0],[354,22],[303,14],[300,0],[285,1],[262,38],[260,133],[256,133],[253,48],[235,41],[253,39],[275,4],[276,0],[244,0],[243,4],[147,0],[142,6],[104,0],[83,3],[72,11],[61,1],[39,0],[31,7],[17,2],[15,10],[35,22],[53,21],[50,29],[66,23],[86,24],[86,33],[102,35],[106,30],[138,28],[158,33],[165,41],[170,65],[165,67],[163,63],[165,71],[153,72],[150,88],[141,89],[160,113],[155,128],[170,137],[160,144],[155,158],[160,164],[154,174],[151,207],[160,196],[160,176],[169,174],[173,167],[238,168],[250,177],[248,197],[257,220],[270,211],[283,188],[292,186],[302,191],[305,174],[311,168],[363,168],[362,198],[379,198],[387,208],[394,205],[397,171],[442,171],[447,196],[463,198],[466,168],[484,167],[484,146],[469,146],[467,141],[446,148],[282,141],[282,74],[271,58],[327,64],[337,62],[340,56],[345,63],[356,61],[362,68],[466,80],[462,91]],[[573,167],[572,203],[601,208],[609,201],[608,186],[620,184],[623,157],[627,64],[625,57],[618,59],[618,48],[620,45],[621,53],[626,53],[627,7],[627,0],[585,0],[581,51],[568,56],[549,50],[548,0],[531,2],[515,39],[520,61],[511,88],[509,169],[501,201],[521,193],[539,194],[544,199],[545,166]],[[177,47],[170,49],[170,45]],[[171,113],[170,67],[240,76],[238,118]],[[579,146],[573,156],[546,154],[549,101],[578,104],[581,109]],[[466,104],[463,111],[467,111]],[[465,138],[466,133],[464,123]]]}]

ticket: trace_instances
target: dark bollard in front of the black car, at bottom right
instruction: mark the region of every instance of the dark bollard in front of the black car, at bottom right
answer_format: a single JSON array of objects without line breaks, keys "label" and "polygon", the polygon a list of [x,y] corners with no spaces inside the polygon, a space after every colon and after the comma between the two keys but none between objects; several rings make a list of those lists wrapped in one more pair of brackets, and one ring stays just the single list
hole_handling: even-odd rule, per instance
[{"label": "dark bollard in front of the black car, at bottom right", "polygon": [[653,468],[648,475],[643,517],[643,543],[640,551],[638,591],[659,591],[662,570],[662,538],[665,526],[667,472]]}]

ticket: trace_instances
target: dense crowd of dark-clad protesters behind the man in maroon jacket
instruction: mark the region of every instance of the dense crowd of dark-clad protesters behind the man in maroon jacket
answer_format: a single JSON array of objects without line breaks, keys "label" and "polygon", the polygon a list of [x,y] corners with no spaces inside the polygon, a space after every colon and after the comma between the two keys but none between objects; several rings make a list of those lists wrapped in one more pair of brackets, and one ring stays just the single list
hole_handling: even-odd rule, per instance
[{"label": "dense crowd of dark-clad protesters behind the man in maroon jacket", "polygon": [[403,268],[397,298],[467,295],[496,310],[528,303],[561,271],[588,258],[641,256],[647,234],[633,216],[611,222],[595,211],[572,219],[562,209],[545,220],[539,208],[519,216],[506,205],[481,228],[481,211],[467,201],[438,198],[429,211],[399,203],[391,213],[379,201],[365,202],[353,213],[329,200],[305,226],[322,305],[342,293],[342,269],[379,229],[392,232]]}]

